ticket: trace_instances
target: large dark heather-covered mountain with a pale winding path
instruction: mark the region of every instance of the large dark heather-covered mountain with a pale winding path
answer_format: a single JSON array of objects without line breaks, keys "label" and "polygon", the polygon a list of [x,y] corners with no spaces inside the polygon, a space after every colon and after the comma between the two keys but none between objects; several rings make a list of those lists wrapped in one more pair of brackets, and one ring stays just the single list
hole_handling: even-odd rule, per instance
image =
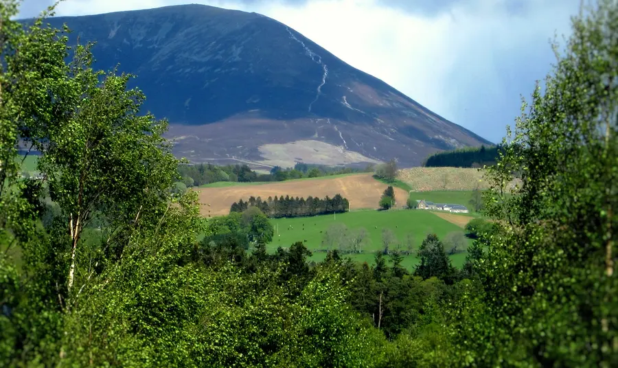
[{"label": "large dark heather-covered mountain with a pale winding path", "polygon": [[136,74],[144,108],[194,162],[413,166],[490,144],[261,14],[176,5],[49,23],[95,41],[96,67]]}]

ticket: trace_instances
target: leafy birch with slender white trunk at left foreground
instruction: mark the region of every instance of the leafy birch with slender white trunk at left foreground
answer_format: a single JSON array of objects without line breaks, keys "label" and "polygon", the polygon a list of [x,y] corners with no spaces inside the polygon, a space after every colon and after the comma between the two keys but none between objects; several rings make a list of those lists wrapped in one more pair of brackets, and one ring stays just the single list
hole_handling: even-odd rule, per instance
[{"label": "leafy birch with slender white trunk at left foreground", "polygon": [[[93,213],[102,210],[109,242],[159,218],[168,207],[168,188],[178,161],[163,139],[167,122],[139,115],[144,95],[127,90],[130,76],[91,69],[89,47],[77,47],[67,75],[71,103],[56,124],[34,135],[43,156],[39,169],[49,194],[67,218],[71,237],[68,287],[73,286],[78,245]],[[102,80],[102,82],[100,82]],[[109,244],[113,257],[122,247]]]}]

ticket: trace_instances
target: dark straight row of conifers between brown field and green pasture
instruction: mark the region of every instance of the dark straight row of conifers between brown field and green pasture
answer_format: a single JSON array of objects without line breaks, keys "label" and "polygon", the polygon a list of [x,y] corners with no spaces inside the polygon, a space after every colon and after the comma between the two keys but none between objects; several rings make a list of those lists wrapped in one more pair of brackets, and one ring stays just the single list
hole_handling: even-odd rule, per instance
[{"label": "dark straight row of conifers between brown field and green pasture", "polygon": [[325,198],[308,196],[307,199],[290,196],[272,198],[269,196],[267,200],[262,200],[259,196],[258,198],[251,196],[246,202],[240,199],[238,202],[232,203],[229,211],[242,212],[251,207],[259,208],[269,218],[282,218],[339,214],[350,208],[350,202],[343,198],[341,194],[335,194],[332,198],[329,198],[329,196],[325,196]]}]

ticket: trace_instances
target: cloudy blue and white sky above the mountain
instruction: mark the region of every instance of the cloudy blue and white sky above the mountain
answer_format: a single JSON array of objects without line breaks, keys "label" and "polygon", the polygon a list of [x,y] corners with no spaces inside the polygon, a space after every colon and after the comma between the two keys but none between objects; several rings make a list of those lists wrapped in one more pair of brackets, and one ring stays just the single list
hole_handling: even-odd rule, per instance
[{"label": "cloudy blue and white sky above the mountain", "polygon": [[[33,16],[49,0],[24,0]],[[555,61],[580,0],[65,0],[58,15],[203,3],[258,12],[498,142]]]}]

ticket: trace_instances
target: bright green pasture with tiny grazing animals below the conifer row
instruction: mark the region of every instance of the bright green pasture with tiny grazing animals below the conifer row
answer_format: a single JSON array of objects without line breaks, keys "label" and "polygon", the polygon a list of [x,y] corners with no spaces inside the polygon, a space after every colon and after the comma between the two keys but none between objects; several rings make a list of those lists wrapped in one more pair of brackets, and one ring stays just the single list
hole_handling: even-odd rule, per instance
[{"label": "bright green pasture with tiny grazing animals below the conifer row", "polygon": [[[408,233],[413,233],[414,249],[418,249],[428,233],[435,233],[439,238],[444,238],[448,233],[461,232],[462,229],[451,224],[446,220],[442,220],[431,214],[429,211],[352,211],[345,214],[324,215],[303,218],[280,218],[272,219],[271,222],[275,226],[275,236],[273,242],[268,244],[268,251],[275,251],[278,246],[286,248],[294,242],[304,242],[308,249],[317,251],[323,249],[321,241],[323,233],[328,227],[336,222],[341,222],[348,229],[356,229],[364,227],[369,233],[371,241],[363,253],[350,255],[353,260],[358,262],[374,261],[374,252],[382,249],[382,228],[393,230],[400,242],[404,242]],[[292,228],[289,228],[289,227]],[[278,230],[277,230],[278,229]],[[306,241],[305,241],[306,240]],[[472,240],[469,240],[472,244]],[[394,247],[391,246],[391,249]],[[402,246],[405,249],[405,246]],[[311,260],[319,262],[326,256],[325,252],[314,252]],[[464,264],[466,253],[459,253],[451,256],[455,266]],[[417,258],[414,256],[404,257],[404,266],[411,269],[417,263]]]}]

